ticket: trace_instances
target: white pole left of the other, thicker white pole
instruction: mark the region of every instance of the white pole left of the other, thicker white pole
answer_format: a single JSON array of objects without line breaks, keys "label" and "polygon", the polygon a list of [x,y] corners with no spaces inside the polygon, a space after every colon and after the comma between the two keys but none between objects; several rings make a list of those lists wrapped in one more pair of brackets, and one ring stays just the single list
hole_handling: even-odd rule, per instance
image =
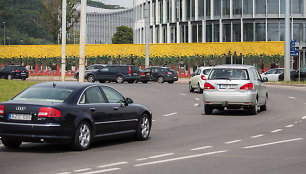
[{"label": "white pole left of the other, thicker white pole", "polygon": [[62,77],[61,80],[65,81],[66,74],[66,0],[62,2]]}]

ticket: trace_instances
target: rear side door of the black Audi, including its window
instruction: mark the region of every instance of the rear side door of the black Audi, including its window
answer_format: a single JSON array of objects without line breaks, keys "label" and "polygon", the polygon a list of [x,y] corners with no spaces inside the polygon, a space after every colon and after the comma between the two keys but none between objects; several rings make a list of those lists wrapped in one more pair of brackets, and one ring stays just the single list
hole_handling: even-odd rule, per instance
[{"label": "rear side door of the black Audi, including its window", "polygon": [[79,105],[91,114],[97,136],[113,132],[111,125],[107,124],[111,121],[113,110],[98,86],[87,88],[79,101]]}]

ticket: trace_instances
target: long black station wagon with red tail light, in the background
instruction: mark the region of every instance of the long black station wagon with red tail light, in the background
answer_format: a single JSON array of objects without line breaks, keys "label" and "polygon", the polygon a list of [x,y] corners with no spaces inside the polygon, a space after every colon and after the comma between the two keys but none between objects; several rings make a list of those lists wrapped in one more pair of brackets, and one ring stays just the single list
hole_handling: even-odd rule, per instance
[{"label": "long black station wagon with red tail light, in the background", "polygon": [[88,82],[95,82],[98,80],[100,83],[105,81],[123,83],[134,83],[139,81],[140,72],[139,68],[134,65],[108,65],[97,71],[87,73],[85,77]]}]

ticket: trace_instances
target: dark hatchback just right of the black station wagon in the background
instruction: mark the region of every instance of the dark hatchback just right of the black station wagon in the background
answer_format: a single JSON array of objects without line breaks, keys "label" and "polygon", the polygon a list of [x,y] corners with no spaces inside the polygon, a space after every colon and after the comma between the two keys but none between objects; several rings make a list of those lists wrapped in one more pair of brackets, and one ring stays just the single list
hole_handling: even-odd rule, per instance
[{"label": "dark hatchback just right of the black station wagon in the background", "polygon": [[178,80],[178,74],[171,68],[168,67],[150,67],[146,68],[147,71],[151,72],[152,80],[158,83],[174,83]]}]

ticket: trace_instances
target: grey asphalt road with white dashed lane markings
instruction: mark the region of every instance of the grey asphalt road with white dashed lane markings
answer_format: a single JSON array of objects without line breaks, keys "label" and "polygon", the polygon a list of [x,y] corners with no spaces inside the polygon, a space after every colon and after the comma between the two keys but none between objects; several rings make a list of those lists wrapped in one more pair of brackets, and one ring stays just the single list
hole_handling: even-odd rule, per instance
[{"label": "grey asphalt road with white dashed lane markings", "polygon": [[269,86],[268,111],[203,114],[187,84],[108,84],[149,106],[148,141],[121,139],[83,152],[68,146],[0,144],[1,174],[305,174],[306,88]]}]

